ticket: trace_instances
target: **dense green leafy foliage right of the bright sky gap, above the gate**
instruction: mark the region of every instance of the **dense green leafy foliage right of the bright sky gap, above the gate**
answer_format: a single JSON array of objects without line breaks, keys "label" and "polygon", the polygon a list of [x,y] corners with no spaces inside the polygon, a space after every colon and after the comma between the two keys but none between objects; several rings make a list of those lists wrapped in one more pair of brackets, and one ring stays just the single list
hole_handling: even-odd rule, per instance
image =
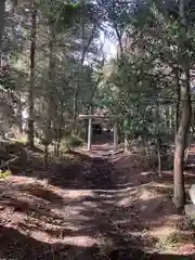
[{"label": "dense green leafy foliage right of the bright sky gap, above the gate", "polygon": [[[107,1],[105,3],[109,6]],[[120,17],[110,6],[106,10],[107,12],[110,10],[109,21],[115,15],[117,21],[115,26],[118,25],[120,28]],[[112,68],[105,78],[100,104],[121,115],[120,129],[123,127],[130,139],[140,135],[147,142],[156,136],[156,131],[160,136],[162,134],[168,136],[167,126],[170,116],[166,115],[168,104],[161,101],[160,103],[159,100],[177,100],[176,67],[180,66],[179,80],[182,80],[181,67],[183,65],[183,53],[180,49],[181,24],[178,18],[171,15],[166,16],[155,0],[140,2],[131,20],[126,21],[128,25],[122,24],[127,29],[125,41],[127,38],[130,43],[123,44],[120,58],[117,56],[115,61],[110,61]],[[192,26],[188,27],[187,42],[185,42],[192,62],[195,61],[194,51],[192,51],[195,50],[194,39]],[[155,115],[157,101],[160,103],[158,123],[156,123]],[[174,107],[173,102],[171,106]],[[122,126],[123,119],[127,121],[126,126]],[[172,127],[174,123],[173,121]],[[171,131],[173,132],[174,129],[172,128]],[[172,164],[169,167],[171,168]]]}]

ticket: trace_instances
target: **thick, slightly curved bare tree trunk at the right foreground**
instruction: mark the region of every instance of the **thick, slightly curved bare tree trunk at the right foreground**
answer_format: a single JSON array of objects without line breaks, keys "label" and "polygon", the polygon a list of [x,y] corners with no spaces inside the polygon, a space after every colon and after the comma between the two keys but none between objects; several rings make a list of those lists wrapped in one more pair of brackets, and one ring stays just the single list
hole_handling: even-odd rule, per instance
[{"label": "thick, slightly curved bare tree trunk at the right foreground", "polygon": [[191,88],[190,88],[190,61],[186,50],[186,18],[185,18],[185,0],[180,1],[180,20],[181,20],[181,38],[180,52],[182,56],[182,68],[184,74],[184,86],[181,87],[181,119],[179,123],[178,134],[176,136],[174,151],[174,205],[180,212],[185,204],[185,187],[184,187],[184,151],[186,146],[186,136],[191,122],[192,103],[191,103]]}]

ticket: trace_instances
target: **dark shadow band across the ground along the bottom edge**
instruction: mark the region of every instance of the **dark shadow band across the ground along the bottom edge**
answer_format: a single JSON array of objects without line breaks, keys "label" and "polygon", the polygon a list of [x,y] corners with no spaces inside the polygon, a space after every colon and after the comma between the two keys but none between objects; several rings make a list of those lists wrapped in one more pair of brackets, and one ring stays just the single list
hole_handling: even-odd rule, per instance
[{"label": "dark shadow band across the ground along the bottom edge", "polygon": [[[12,227],[0,226],[0,258],[14,260],[184,260],[191,257],[174,255],[146,255],[142,250],[113,250],[108,255],[100,248],[81,247],[39,242],[30,236],[21,234]],[[100,258],[101,257],[101,258]]]}]

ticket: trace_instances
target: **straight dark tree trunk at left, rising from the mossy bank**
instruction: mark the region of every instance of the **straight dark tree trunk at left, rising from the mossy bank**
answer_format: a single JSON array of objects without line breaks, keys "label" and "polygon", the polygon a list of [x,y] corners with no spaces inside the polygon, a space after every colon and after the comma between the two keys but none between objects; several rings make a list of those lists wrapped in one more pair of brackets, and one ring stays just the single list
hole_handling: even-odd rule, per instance
[{"label": "straight dark tree trunk at left, rising from the mossy bank", "polygon": [[36,53],[36,16],[35,0],[31,0],[31,31],[30,31],[30,84],[28,91],[28,145],[34,147],[34,90],[35,90],[35,53]]}]

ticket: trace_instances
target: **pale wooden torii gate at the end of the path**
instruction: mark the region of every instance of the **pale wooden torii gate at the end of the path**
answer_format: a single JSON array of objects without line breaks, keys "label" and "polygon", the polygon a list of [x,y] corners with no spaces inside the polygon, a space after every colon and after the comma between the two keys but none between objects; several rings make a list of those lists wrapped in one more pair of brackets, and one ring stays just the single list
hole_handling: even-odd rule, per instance
[{"label": "pale wooden torii gate at the end of the path", "polygon": [[101,116],[101,115],[79,115],[80,119],[88,119],[88,151],[91,150],[92,144],[92,120],[99,119],[99,120],[109,120],[113,121],[113,150],[117,151],[118,148],[118,128],[117,128],[117,121],[118,116]]}]

